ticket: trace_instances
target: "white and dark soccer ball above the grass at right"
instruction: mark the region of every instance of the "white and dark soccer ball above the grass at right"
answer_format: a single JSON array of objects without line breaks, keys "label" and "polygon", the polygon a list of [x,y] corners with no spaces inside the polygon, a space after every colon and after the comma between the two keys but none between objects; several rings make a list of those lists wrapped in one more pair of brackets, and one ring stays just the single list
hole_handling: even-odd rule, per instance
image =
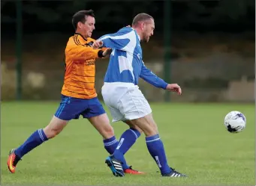
[{"label": "white and dark soccer ball above the grass at right", "polygon": [[239,111],[231,111],[226,115],[224,125],[230,133],[238,133],[245,128],[245,115]]}]

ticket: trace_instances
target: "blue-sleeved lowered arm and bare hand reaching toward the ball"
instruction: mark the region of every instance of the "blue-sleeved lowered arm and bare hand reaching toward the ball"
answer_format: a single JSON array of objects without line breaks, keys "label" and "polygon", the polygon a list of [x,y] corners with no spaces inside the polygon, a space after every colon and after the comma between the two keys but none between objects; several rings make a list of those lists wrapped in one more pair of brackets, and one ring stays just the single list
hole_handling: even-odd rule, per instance
[{"label": "blue-sleeved lowered arm and bare hand reaching toward the ball", "polygon": [[155,87],[176,92],[179,95],[182,93],[182,90],[178,84],[167,84],[167,82],[155,75],[150,69],[146,68],[144,63],[140,72],[140,78],[143,78],[143,80]]}]

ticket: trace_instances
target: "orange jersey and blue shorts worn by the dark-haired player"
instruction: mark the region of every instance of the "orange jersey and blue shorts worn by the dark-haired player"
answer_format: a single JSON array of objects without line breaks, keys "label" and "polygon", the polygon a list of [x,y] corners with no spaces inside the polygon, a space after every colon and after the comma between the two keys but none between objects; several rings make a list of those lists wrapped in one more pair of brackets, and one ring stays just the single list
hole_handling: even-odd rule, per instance
[{"label": "orange jersey and blue shorts worn by the dark-haired player", "polygon": [[95,91],[95,60],[103,58],[104,49],[92,49],[92,38],[75,33],[65,48],[65,77],[62,101],[55,116],[62,120],[95,117],[104,108]]}]

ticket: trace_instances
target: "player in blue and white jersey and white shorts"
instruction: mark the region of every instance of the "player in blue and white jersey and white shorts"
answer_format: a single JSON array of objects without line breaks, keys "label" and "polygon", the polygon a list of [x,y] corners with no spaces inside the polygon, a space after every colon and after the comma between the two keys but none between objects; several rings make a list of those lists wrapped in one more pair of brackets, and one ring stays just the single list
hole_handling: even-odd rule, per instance
[{"label": "player in blue and white jersey and white shorts", "polygon": [[179,95],[182,93],[178,84],[167,84],[143,63],[140,42],[149,42],[154,29],[152,16],[140,13],[134,17],[131,28],[125,27],[115,34],[104,35],[92,45],[94,48],[104,46],[113,49],[101,93],[110,109],[113,122],[121,120],[130,126],[120,137],[113,155],[106,159],[114,176],[125,176],[121,166],[125,161],[124,154],[142,131],[146,134],[146,146],[158,165],[161,176],[185,176],[168,165],[152,110],[137,86],[139,78],[143,78],[155,87],[174,91]]}]

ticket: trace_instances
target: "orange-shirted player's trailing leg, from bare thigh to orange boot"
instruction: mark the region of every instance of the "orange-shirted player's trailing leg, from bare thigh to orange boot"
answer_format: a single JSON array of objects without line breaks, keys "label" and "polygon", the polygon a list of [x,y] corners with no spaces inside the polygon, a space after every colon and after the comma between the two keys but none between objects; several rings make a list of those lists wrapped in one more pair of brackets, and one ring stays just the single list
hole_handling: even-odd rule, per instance
[{"label": "orange-shirted player's trailing leg, from bare thigh to orange boot", "polygon": [[68,121],[61,120],[55,116],[44,129],[38,129],[35,131],[24,143],[17,149],[12,149],[8,157],[8,169],[11,173],[15,173],[17,163],[21,160],[23,155],[29,153],[35,147],[44,143],[44,141],[50,138],[56,137],[63,128],[68,124]]}]

